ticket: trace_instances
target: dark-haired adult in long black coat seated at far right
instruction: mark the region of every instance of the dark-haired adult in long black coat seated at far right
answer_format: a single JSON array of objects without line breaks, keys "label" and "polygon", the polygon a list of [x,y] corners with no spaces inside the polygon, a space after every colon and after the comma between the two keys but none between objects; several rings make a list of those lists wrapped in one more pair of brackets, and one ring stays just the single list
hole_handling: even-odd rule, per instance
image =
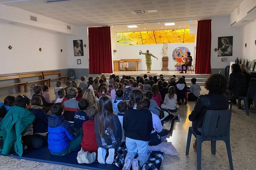
[{"label": "dark-haired adult in long black coat seated at far right", "polygon": [[228,96],[229,100],[236,104],[237,96],[246,96],[247,82],[239,64],[231,65],[231,71],[227,85]]}]

